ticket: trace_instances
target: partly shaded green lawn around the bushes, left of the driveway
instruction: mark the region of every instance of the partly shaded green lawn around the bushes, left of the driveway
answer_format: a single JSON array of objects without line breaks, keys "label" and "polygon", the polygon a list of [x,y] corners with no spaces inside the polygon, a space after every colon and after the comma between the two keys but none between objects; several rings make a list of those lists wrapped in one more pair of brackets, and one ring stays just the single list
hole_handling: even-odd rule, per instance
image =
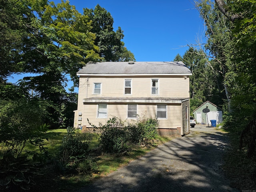
[{"label": "partly shaded green lawn around the bushes, left of the driveway", "polygon": [[[81,130],[77,130],[78,133]],[[106,176],[109,173],[116,171],[122,166],[126,166],[129,162],[138,159],[140,156],[145,155],[155,146],[167,142],[171,138],[161,137],[155,141],[154,146],[144,147],[132,145],[132,149],[123,155],[106,154],[102,153],[99,148],[99,135],[94,134],[92,141],[90,142],[90,155],[89,158],[95,162],[96,171],[92,175],[73,172],[64,168],[61,164],[60,147],[62,146],[63,138],[66,136],[66,129],[48,130],[46,132],[47,140],[44,140],[44,147],[50,154],[50,160],[40,167],[40,171],[36,174],[34,180],[36,186],[32,186],[31,190],[37,192],[62,192],[62,191],[76,191],[80,187],[89,184],[94,179]],[[24,148],[25,151],[39,151],[39,147],[35,147],[32,144],[27,144]],[[32,158],[32,156],[31,156]]]}]

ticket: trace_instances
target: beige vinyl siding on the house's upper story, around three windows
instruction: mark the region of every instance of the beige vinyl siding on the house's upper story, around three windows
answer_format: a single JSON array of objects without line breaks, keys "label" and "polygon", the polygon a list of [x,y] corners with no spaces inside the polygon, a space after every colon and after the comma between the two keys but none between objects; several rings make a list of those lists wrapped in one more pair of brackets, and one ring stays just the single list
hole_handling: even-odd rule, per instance
[{"label": "beige vinyl siding on the house's upper story, around three windows", "polygon": [[[107,97],[149,97],[151,96],[151,79],[159,79],[158,97],[189,98],[189,78],[184,77],[90,77],[88,98],[97,96]],[[124,95],[124,79],[132,79],[132,95]],[[86,98],[87,77],[80,77],[79,93],[81,98]],[[93,83],[102,83],[102,94],[93,94]]]}]

